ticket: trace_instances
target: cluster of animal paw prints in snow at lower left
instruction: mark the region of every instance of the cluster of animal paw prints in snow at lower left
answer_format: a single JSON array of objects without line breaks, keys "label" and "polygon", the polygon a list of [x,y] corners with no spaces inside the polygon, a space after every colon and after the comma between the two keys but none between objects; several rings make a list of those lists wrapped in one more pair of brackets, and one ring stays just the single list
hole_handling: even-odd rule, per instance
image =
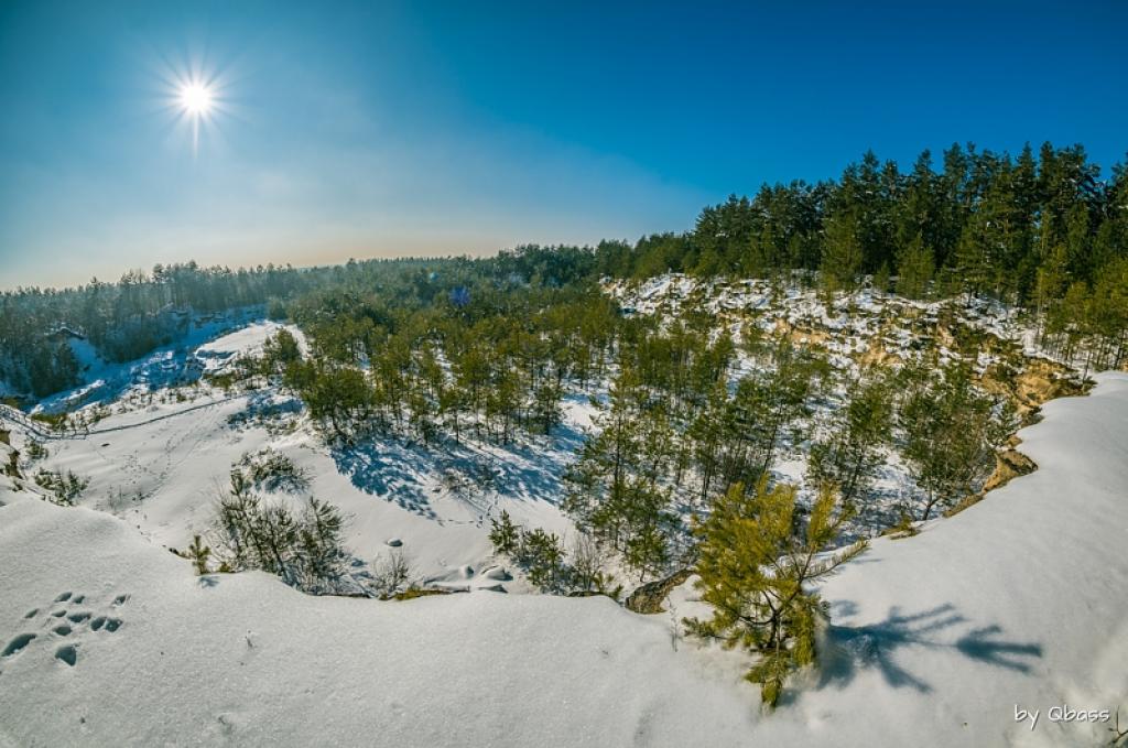
[{"label": "cluster of animal paw prints in snow at lower left", "polygon": [[[44,630],[46,636],[45,645],[52,646],[54,641],[54,658],[60,662],[74,667],[79,660],[79,650],[85,646],[87,639],[100,639],[106,634],[112,634],[120,630],[124,622],[116,616],[108,615],[111,610],[117,610],[130,599],[127,593],[118,595],[106,606],[106,613],[96,614],[88,608],[73,608],[76,605],[87,602],[87,596],[74,592],[61,592],[55,599],[42,608],[32,608],[23,616],[23,621],[39,619],[39,627]],[[0,650],[0,658],[10,658],[19,654],[33,642],[39,639],[36,633],[21,633],[11,639]],[[33,646],[33,649],[35,649]]]}]

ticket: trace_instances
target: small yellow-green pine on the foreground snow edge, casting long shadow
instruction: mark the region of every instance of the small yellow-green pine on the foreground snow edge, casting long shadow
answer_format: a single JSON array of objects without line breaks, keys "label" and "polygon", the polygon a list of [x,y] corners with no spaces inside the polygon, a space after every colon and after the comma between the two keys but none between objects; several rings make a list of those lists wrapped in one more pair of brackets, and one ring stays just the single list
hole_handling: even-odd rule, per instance
[{"label": "small yellow-green pine on the foreground snow edge, casting long shadow", "polygon": [[816,628],[827,611],[810,582],[866,547],[861,540],[816,558],[848,514],[837,494],[823,489],[803,528],[795,522],[795,487],[768,490],[761,479],[751,492],[733,485],[695,527],[700,539],[697,588],[702,601],[713,607],[713,617],[685,623],[699,636],[759,654],[746,677],[761,684],[768,706],[775,706],[793,670],[814,662]]}]

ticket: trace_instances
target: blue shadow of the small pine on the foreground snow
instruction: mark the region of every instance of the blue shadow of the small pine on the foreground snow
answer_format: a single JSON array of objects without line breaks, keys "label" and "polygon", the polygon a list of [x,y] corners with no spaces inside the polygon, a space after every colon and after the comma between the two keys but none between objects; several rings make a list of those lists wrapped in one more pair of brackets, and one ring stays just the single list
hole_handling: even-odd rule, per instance
[{"label": "blue shadow of the small pine on the foreground snow", "polygon": [[[830,604],[839,615],[848,616],[857,608],[849,600]],[[898,652],[915,648],[950,651],[953,654],[987,665],[1030,672],[1033,661],[1042,655],[1042,645],[1031,642],[1007,641],[997,625],[969,627],[954,639],[951,631],[968,626],[970,622],[951,604],[941,605],[916,614],[902,614],[898,607],[889,616],[869,626],[830,626],[820,668],[819,686],[844,687],[866,669],[876,669],[893,688],[913,688],[920,693],[932,690],[919,675],[909,672],[898,663]]]}]

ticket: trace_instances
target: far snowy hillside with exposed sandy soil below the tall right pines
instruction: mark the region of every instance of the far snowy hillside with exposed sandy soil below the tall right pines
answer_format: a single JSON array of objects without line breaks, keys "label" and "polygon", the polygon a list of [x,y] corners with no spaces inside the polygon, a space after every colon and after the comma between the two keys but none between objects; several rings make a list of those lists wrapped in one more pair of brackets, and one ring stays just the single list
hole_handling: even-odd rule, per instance
[{"label": "far snowy hillside with exposed sandy soil below the tall right pines", "polygon": [[[603,285],[627,315],[652,316],[664,326],[699,315],[710,320],[712,335],[726,333],[743,343],[737,346],[733,379],[765,368],[765,357],[755,353],[765,340],[787,340],[825,357],[835,384],[827,397],[809,403],[811,412],[799,419],[794,434],[781,439],[770,466],[775,481],[800,486],[803,501],[816,494],[809,479],[813,442],[840,428],[835,416],[848,403],[851,384],[867,370],[914,363],[936,370],[968,361],[977,387],[1007,401],[1026,420],[1045,401],[1084,390],[1083,363],[1052,360],[1021,309],[986,298],[916,301],[869,284],[828,298],[809,281],[800,274],[725,280],[667,273]],[[847,523],[845,539],[872,537],[901,514],[919,514],[922,492],[902,451],[891,443],[881,451],[866,511]]]}]

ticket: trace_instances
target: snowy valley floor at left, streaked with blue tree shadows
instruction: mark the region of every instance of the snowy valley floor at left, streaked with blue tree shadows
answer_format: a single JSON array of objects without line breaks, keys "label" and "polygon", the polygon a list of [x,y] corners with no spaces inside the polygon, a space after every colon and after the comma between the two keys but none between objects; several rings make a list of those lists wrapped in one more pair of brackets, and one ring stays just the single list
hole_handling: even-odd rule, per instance
[{"label": "snowy valley floor at left, streaked with blue tree shadows", "polygon": [[[195,361],[202,371],[222,372],[238,357],[259,353],[281,327],[256,322],[199,347],[182,346],[175,357],[168,352],[177,362],[169,368]],[[300,331],[288,329],[306,345]],[[118,376],[138,370],[123,367]],[[80,503],[122,517],[170,548],[183,549],[208,530],[231,466],[266,447],[306,472],[309,493],[349,516],[346,543],[360,560],[387,554],[386,542],[396,538],[415,573],[431,582],[496,584],[479,581],[477,572],[491,564],[490,519],[502,510],[522,525],[571,531],[557,508],[559,477],[591,424],[585,397],[570,396],[565,422],[550,439],[467,443],[439,455],[397,440],[329,449],[301,403],[274,388],[227,393],[205,380],[179,388],[118,381],[118,399],[79,411],[105,414],[88,434],[46,441],[49,456],[26,472],[71,470],[89,479]],[[25,435],[14,433],[17,448]]]}]

